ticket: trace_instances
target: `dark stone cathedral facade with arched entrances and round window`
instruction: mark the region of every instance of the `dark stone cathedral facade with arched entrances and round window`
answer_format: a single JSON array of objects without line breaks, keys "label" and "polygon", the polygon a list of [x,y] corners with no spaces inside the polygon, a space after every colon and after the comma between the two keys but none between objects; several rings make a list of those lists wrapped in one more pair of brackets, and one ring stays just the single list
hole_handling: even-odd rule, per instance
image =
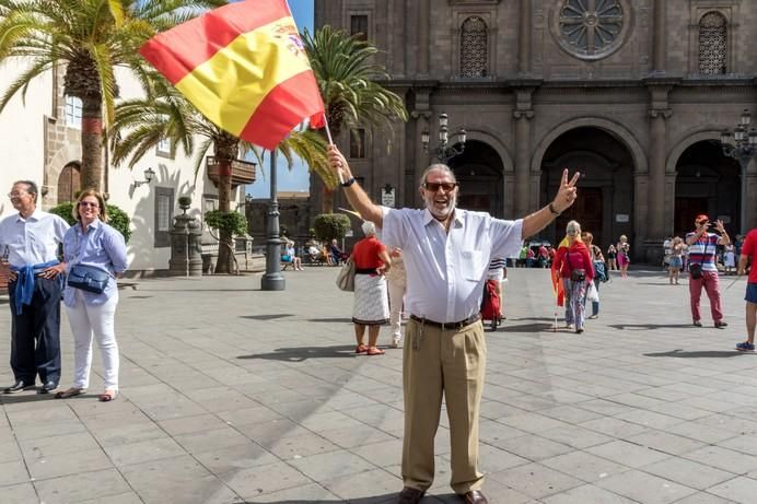
[{"label": "dark stone cathedral facade with arched entrances and round window", "polygon": [[409,112],[338,141],[376,201],[419,207],[420,174],[440,159],[462,208],[505,219],[580,172],[577,204],[539,236],[551,243],[577,219],[604,249],[626,235],[636,260],[657,262],[699,213],[732,236],[757,225],[757,2],[315,0],[315,24],[375,44]]}]

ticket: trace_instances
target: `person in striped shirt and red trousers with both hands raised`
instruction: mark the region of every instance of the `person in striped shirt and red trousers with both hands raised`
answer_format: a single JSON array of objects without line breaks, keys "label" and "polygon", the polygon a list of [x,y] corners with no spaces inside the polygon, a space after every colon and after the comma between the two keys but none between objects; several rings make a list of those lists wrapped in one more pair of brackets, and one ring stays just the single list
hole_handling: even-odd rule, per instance
[{"label": "person in striped shirt and red trousers with both hands raised", "polygon": [[[699,300],[702,288],[710,298],[710,312],[715,327],[723,328],[727,324],[723,320],[723,310],[720,296],[720,283],[715,255],[718,245],[729,245],[731,238],[723,227],[722,221],[714,222],[714,228],[720,233],[710,233],[710,218],[700,214],[694,220],[697,231],[686,235],[686,244],[689,246],[689,296],[691,302],[691,318],[696,327],[701,327],[699,313]],[[698,266],[696,266],[698,265]],[[700,272],[697,272],[699,270]]]}]

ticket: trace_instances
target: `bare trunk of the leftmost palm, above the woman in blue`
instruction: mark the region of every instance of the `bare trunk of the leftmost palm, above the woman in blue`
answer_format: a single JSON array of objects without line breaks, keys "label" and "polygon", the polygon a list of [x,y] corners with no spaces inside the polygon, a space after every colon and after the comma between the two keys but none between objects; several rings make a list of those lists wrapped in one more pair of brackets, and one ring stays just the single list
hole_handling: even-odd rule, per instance
[{"label": "bare trunk of the leftmost palm, above the woman in blue", "polygon": [[81,187],[102,190],[103,103],[98,97],[82,98]]}]

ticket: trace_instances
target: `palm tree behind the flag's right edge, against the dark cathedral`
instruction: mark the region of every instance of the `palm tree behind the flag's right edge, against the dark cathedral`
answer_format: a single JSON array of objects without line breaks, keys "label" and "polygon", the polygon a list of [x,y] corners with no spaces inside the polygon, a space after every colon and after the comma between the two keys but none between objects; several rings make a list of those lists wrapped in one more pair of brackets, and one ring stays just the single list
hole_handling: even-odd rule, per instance
[{"label": "palm tree behind the flag's right edge, against the dark cathedral", "polygon": [[[378,52],[373,44],[330,26],[318,28],[314,35],[305,31],[302,39],[334,137],[343,129],[391,130],[395,120],[407,120],[403,98],[376,82],[389,75],[372,61]],[[333,187],[324,184],[324,213],[334,209]]]}]

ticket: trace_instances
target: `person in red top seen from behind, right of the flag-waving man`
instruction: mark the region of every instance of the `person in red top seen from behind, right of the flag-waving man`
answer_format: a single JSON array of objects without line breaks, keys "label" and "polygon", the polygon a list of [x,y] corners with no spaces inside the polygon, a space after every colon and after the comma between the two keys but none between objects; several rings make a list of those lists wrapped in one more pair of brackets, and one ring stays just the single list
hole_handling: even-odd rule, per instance
[{"label": "person in red top seen from behind, right of the flag-waving man", "polygon": [[566,292],[566,324],[580,335],[584,330],[586,289],[594,280],[594,267],[589,248],[581,241],[581,224],[570,221],[566,238],[568,246],[558,248],[555,268],[560,272]]}]

